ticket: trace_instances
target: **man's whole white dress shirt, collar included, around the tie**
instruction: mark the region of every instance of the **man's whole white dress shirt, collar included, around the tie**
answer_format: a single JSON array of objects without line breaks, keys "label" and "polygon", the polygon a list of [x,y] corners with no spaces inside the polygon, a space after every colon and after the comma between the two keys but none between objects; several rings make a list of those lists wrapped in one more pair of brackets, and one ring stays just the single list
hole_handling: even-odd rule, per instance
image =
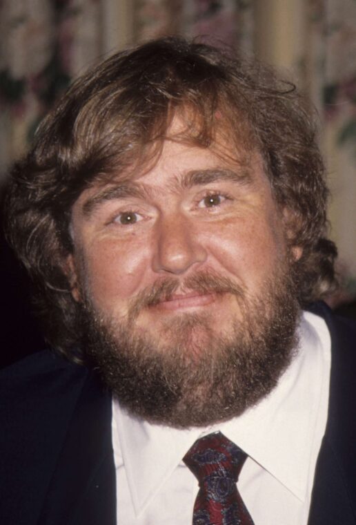
[{"label": "man's whole white dress shirt, collar included, around the tie", "polygon": [[298,352],[277,387],[226,423],[177,430],[135,419],[113,402],[118,525],[190,525],[198,485],[181,458],[215,430],[248,455],[238,489],[255,525],[307,523],[326,428],[330,334],[309,312],[298,330]]}]

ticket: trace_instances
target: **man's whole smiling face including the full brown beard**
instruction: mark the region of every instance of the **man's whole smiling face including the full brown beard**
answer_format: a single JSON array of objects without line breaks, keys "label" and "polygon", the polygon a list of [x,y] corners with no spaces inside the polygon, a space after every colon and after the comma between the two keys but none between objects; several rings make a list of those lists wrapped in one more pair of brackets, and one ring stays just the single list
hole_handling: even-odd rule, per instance
[{"label": "man's whole smiling face including the full brown beard", "polygon": [[[141,376],[145,370],[149,374],[151,357],[155,367],[167,361],[171,375],[177,367],[179,381],[199,383],[197,391],[205,397],[217,382],[211,369],[224,368],[218,359],[225,352],[221,347],[235,349],[231,351],[240,357],[256,354],[261,361],[259,347],[275,341],[276,333],[267,332],[283,325],[279,317],[284,310],[288,330],[279,326],[279,331],[288,334],[286,355],[275,366],[273,379],[266,379],[266,389],[273,388],[289,359],[297,318],[283,220],[261,159],[256,154],[233,160],[229,153],[230,158],[221,146],[204,149],[166,140],[150,171],[127,180],[118,175],[106,187],[84,191],[72,211],[75,254],[70,263],[79,283],[73,294],[90,312],[91,346],[97,347],[91,353],[97,355],[105,340],[111,354],[117,347],[126,358],[131,352],[135,362],[143,360]],[[279,353],[278,348],[268,350],[274,351]],[[271,359],[266,356],[266,361]],[[229,369],[232,361],[226,362]],[[110,364],[110,376],[116,374],[112,366],[120,363]],[[167,370],[162,374],[169,376]],[[211,381],[204,384],[207,374]],[[250,390],[258,382],[248,381]],[[197,398],[191,384],[186,388]],[[172,384],[168,390],[174,390]],[[241,412],[266,391],[257,394],[236,410]],[[118,395],[125,397],[122,391]],[[135,410],[138,402],[127,404]],[[145,410],[135,411],[150,418]],[[178,426],[211,419],[217,417],[167,417]]]}]

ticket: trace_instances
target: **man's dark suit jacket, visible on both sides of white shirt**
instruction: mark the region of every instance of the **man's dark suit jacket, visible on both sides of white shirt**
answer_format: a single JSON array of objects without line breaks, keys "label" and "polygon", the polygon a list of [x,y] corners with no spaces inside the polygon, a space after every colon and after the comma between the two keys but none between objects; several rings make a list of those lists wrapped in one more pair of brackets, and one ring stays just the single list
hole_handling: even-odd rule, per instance
[{"label": "man's dark suit jacket, visible on both sides of white shirt", "polygon": [[[309,525],[356,525],[356,327],[322,314],[332,371]],[[0,396],[0,524],[115,525],[110,393],[95,374],[41,352],[0,372]]]}]

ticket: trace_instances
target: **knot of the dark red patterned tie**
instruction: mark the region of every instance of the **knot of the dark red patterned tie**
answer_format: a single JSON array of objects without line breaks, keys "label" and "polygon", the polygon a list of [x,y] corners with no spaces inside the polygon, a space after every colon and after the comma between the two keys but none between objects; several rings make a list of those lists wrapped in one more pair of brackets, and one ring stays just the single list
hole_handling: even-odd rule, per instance
[{"label": "knot of the dark red patterned tie", "polygon": [[229,492],[235,487],[246,454],[221,432],[201,437],[184,456],[184,463],[197,477],[199,486],[219,485]]}]

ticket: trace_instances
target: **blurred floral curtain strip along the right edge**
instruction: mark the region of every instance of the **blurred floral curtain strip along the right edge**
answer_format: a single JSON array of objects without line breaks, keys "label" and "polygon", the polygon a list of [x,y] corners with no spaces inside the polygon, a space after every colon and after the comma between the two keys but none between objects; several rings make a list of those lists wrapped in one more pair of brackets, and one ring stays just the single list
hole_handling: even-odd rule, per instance
[{"label": "blurred floral curtain strip along the right edge", "polygon": [[343,301],[356,297],[356,1],[308,0],[306,86],[322,120]]}]

